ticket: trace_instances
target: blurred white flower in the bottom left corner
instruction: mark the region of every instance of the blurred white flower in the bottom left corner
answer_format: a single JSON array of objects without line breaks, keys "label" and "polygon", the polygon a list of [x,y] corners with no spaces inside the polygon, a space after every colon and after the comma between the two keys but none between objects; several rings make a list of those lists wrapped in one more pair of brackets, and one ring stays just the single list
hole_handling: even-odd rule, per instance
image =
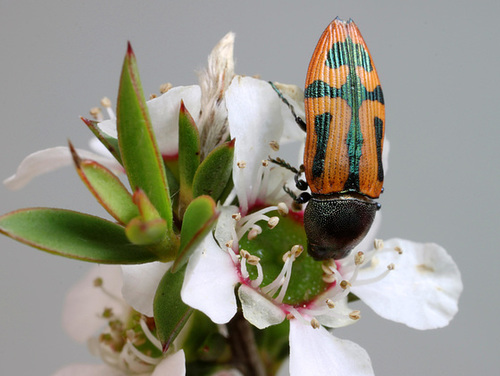
[{"label": "blurred white flower in the bottom left corner", "polygon": [[[69,291],[63,326],[76,341],[87,342],[90,351],[105,364],[72,364],[54,376],[185,375],[184,352],[162,354],[160,342],[149,329],[148,318],[128,306],[121,288],[120,267],[94,266]],[[145,345],[148,354],[138,349]]]}]

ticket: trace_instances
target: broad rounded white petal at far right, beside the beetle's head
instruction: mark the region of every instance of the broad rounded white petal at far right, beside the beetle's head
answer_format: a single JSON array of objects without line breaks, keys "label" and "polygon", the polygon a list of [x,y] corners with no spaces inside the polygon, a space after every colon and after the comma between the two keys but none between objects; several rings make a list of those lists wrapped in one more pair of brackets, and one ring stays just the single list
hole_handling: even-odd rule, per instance
[{"label": "broad rounded white petal at far right, beside the beetle's head", "polygon": [[[379,275],[393,263],[395,269],[379,282],[353,286],[352,292],[380,316],[415,329],[448,325],[458,311],[462,292],[460,271],[450,255],[437,244],[391,239],[360,270],[359,280]],[[403,251],[399,255],[394,247]]]}]

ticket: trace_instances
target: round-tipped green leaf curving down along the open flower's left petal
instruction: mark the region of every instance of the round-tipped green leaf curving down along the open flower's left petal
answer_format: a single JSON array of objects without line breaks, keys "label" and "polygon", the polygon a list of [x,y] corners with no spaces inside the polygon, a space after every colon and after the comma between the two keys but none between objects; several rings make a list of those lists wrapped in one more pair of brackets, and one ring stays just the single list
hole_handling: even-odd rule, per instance
[{"label": "round-tipped green leaf curving down along the open flower's left petal", "polygon": [[215,201],[209,196],[197,197],[187,207],[182,221],[179,254],[172,266],[173,273],[188,261],[198,244],[212,229],[218,216]]}]

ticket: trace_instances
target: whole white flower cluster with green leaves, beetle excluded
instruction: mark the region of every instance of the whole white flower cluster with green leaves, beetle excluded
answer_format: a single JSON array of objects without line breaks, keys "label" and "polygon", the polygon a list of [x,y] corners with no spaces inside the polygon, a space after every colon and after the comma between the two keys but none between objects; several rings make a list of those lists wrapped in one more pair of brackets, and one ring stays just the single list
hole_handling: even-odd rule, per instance
[{"label": "whole white flower cluster with green leaves, beetle excluded", "polygon": [[[17,240],[121,265],[93,268],[69,292],[64,309],[68,333],[87,341],[104,364],[70,365],[57,376],[373,375],[367,352],[332,331],[360,319],[352,300],[419,330],[446,326],[456,314],[462,283],[452,258],[436,244],[376,239],[380,215],[342,260],[318,262],[304,251],[303,211],[283,189],[294,177],[270,162],[283,144],[302,150],[304,134],[267,82],[234,74],[233,43],[229,33],[216,45],[199,86],[165,86],[147,102],[134,102],[125,92],[131,82],[131,97],[140,94],[129,50],[117,113],[104,100],[109,119],[100,110],[93,111],[95,120],[84,119],[97,136],[95,152],[46,149],[28,156],[4,182],[21,188],[74,162],[117,221],[57,211],[84,228],[104,226],[111,238],[104,243],[99,234],[72,229],[68,244],[83,234],[93,248],[75,240],[67,252],[57,248],[64,242],[52,244],[32,235],[33,228],[22,232],[11,225],[26,213],[56,226],[53,212],[0,218],[0,231]],[[302,90],[276,86],[303,116]],[[127,100],[132,104],[121,104]],[[134,106],[149,113],[142,120],[154,141],[139,145],[149,156],[131,150],[139,141],[124,124],[135,116]],[[388,149],[386,144],[385,162]],[[144,166],[158,156],[157,176],[146,175]],[[131,193],[119,183],[123,174]],[[124,256],[124,249],[130,254]]]}]

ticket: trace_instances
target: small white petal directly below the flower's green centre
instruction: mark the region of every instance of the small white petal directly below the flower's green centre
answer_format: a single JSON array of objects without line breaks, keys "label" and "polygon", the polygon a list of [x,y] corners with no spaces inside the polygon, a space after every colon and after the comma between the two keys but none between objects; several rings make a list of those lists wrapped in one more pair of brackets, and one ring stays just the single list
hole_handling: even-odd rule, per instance
[{"label": "small white petal directly below the flower's green centre", "polygon": [[238,296],[245,319],[259,329],[281,323],[286,315],[274,303],[247,285],[241,285]]}]

